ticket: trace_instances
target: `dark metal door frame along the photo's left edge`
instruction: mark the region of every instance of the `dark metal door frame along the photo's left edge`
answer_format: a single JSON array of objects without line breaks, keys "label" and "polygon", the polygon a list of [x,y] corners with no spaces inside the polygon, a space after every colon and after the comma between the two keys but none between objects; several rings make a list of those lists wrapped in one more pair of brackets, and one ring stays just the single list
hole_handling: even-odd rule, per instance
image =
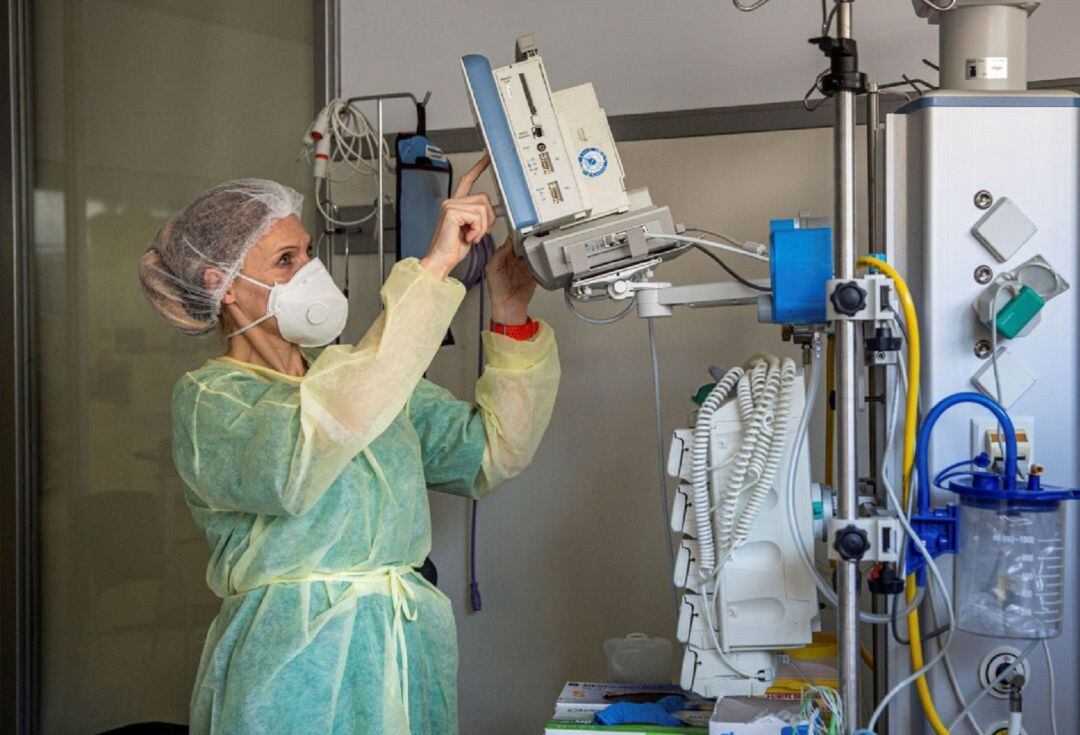
[{"label": "dark metal door frame along the photo's left edge", "polygon": [[0,731],[37,732],[38,507],[30,8],[5,0],[0,127]]}]

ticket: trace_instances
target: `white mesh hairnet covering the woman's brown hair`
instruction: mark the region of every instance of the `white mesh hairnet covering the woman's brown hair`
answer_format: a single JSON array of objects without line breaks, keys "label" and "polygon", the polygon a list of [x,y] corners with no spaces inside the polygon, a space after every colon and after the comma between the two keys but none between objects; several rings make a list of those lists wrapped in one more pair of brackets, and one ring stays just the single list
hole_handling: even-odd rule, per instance
[{"label": "white mesh hairnet covering the woman's brown hair", "polygon": [[[266,179],[226,181],[166,221],[139,261],[143,294],[171,325],[203,335],[220,322],[221,296],[274,222],[300,215],[303,196]],[[225,275],[206,283],[206,270]]]}]

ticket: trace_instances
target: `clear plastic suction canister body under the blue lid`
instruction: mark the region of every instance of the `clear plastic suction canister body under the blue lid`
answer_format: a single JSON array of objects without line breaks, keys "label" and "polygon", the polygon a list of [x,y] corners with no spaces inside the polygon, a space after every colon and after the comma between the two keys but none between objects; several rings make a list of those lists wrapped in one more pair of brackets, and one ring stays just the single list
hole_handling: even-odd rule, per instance
[{"label": "clear plastic suction canister body under the blue lid", "polygon": [[1062,631],[1064,509],[1059,502],[961,496],[955,567],[957,626],[993,638]]}]

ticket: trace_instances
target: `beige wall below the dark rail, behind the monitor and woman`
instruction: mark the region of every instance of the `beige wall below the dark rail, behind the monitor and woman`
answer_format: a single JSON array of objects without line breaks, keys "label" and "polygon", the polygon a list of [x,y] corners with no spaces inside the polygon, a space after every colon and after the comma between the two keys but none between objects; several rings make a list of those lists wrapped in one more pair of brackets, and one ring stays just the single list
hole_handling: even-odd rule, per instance
[{"label": "beige wall below the dark rail, behind the monitor and woman", "polygon": [[[648,186],[678,221],[767,242],[770,218],[797,209],[832,216],[831,136],[820,130],[642,141],[620,152],[630,183]],[[461,172],[476,154],[453,158]],[[729,263],[765,275],[754,261]],[[726,275],[688,254],[658,277],[697,283]],[[459,344],[444,349],[430,373],[461,397],[471,395],[475,376],[476,308],[471,294],[455,325]],[[558,335],[563,384],[532,466],[480,505],[478,614],[468,612],[469,505],[432,498],[432,556],[458,615],[461,726],[470,735],[538,732],[564,681],[604,676],[606,638],[673,636],[646,324],[636,316],[583,324],[561,292],[539,292],[532,313]],[[366,318],[356,314],[351,328]],[[757,324],[751,307],[677,311],[656,331],[665,435],[685,425],[688,397],[707,381],[710,364],[730,366],[762,350],[794,354],[778,328]],[[812,441],[820,454],[820,430]]]}]

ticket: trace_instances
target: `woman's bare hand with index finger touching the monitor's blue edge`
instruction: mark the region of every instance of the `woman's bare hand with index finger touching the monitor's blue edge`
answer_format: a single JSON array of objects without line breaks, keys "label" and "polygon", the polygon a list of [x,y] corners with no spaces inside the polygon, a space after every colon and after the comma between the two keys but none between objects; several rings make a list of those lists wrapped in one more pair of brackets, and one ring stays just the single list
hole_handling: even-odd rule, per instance
[{"label": "woman's bare hand with index finger touching the monitor's blue edge", "polygon": [[495,209],[487,194],[469,193],[489,162],[485,155],[467,171],[454,189],[454,198],[443,202],[431,249],[420,260],[423,268],[441,280],[464,260],[469,249],[490,232],[495,224]]}]

